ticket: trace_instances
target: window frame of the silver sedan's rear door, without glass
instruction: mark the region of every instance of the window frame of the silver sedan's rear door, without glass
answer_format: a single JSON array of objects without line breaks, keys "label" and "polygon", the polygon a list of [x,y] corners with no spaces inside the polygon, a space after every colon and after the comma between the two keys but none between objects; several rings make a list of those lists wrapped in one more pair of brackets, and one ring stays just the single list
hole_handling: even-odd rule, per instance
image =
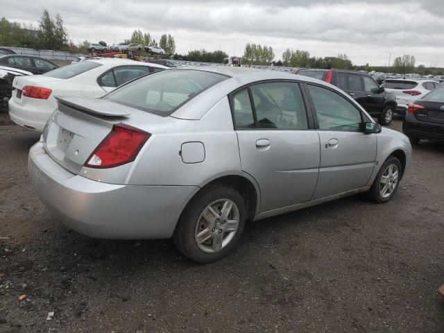
[{"label": "window frame of the silver sedan's rear door, without glass", "polygon": [[[248,83],[248,84],[243,85],[242,87],[234,89],[232,92],[230,92],[230,94],[228,94],[228,103],[230,104],[230,111],[231,111],[234,130],[293,130],[290,128],[287,128],[287,129],[284,129],[284,128],[258,128],[256,108],[255,108],[255,103],[253,101],[253,94],[251,92],[250,87],[252,87],[253,85],[260,85],[262,83],[294,83],[294,84],[298,85],[298,87],[300,89],[300,93],[302,94],[302,102],[304,104],[305,115],[307,117],[307,127],[308,128],[305,130],[316,130],[316,127],[314,124],[314,114],[312,113],[311,105],[309,105],[309,101],[308,101],[309,95],[307,94],[307,92],[305,92],[305,87],[303,87],[303,85],[305,85],[305,83],[298,81],[298,80],[285,80],[285,79],[283,79],[283,80],[282,79],[261,80],[261,81],[257,81],[257,82],[253,82],[253,83]],[[250,105],[253,110],[253,119],[255,120],[255,128],[237,128],[237,126],[236,126],[236,119],[234,116],[233,96],[235,94],[237,94],[238,92],[241,92],[243,89],[248,89],[248,96],[250,98]]]}]

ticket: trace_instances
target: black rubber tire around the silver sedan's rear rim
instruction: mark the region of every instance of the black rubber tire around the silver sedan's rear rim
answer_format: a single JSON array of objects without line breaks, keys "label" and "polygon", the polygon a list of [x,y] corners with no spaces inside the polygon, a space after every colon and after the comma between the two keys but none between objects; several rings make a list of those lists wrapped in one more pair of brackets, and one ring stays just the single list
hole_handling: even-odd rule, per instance
[{"label": "black rubber tire around the silver sedan's rear rim", "polygon": [[[232,236],[231,241],[214,253],[205,253],[196,244],[196,228],[200,214],[207,206],[220,199],[231,200],[239,211],[239,225],[237,231]],[[190,200],[185,210],[182,212],[176,230],[173,234],[173,241],[178,250],[195,262],[208,263],[215,262],[225,255],[228,255],[237,245],[241,234],[244,231],[246,221],[246,205],[244,198],[239,192],[228,185],[215,184],[202,189],[194,198]],[[213,230],[214,232],[214,230]],[[225,233],[223,233],[225,235]],[[228,235],[228,234],[227,234]]]}]

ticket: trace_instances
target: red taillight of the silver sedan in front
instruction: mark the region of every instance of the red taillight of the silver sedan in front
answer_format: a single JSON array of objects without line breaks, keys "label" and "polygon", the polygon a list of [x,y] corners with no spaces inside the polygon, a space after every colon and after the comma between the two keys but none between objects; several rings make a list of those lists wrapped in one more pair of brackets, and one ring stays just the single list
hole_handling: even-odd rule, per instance
[{"label": "red taillight of the silver sedan in front", "polygon": [[133,162],[150,133],[119,123],[89,156],[85,167],[112,168]]}]

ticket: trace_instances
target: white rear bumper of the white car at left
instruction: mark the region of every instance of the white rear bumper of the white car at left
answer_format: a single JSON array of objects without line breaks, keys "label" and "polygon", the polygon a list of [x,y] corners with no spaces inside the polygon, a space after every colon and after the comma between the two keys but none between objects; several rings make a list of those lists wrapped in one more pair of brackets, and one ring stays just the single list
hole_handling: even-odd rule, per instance
[{"label": "white rear bumper of the white car at left", "polygon": [[36,107],[32,105],[20,105],[14,99],[9,101],[9,117],[19,126],[23,126],[34,130],[37,133],[42,133],[52,111],[47,111],[46,108]]}]

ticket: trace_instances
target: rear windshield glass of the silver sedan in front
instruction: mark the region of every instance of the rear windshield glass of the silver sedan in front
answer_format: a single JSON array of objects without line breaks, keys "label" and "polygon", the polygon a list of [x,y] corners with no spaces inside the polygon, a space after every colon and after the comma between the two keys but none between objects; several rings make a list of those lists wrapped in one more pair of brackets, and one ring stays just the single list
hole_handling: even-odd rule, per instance
[{"label": "rear windshield glass of the silver sedan in front", "polygon": [[221,74],[190,69],[157,71],[123,85],[103,99],[166,117],[226,78]]}]

